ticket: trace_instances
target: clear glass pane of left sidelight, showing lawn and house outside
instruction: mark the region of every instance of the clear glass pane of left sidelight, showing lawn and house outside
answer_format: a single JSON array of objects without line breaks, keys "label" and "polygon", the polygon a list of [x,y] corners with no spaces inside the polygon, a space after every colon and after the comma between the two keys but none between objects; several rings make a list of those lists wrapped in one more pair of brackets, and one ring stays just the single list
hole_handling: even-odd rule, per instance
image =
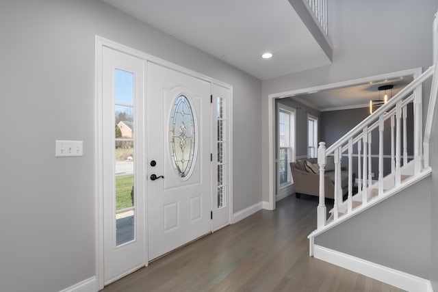
[{"label": "clear glass pane of left sidelight, showing lawn and house outside", "polygon": [[136,196],[134,193],[134,75],[114,70],[114,148],[116,245],[133,241]]}]

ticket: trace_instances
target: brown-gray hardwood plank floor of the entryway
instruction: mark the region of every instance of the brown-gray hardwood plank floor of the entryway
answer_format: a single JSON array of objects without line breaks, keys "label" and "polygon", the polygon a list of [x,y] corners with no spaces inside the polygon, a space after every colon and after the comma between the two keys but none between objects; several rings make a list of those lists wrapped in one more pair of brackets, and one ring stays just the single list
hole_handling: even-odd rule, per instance
[{"label": "brown-gray hardwood plank floor of the entryway", "polygon": [[317,198],[289,196],[103,291],[402,291],[309,257]]}]

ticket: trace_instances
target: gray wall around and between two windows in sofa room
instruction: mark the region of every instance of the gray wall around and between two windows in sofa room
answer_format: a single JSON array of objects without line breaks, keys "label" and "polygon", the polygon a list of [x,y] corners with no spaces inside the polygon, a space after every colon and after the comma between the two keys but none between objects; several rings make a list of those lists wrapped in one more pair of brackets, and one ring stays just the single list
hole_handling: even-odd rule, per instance
[{"label": "gray wall around and between two windows in sofa room", "polygon": [[[295,143],[296,143],[296,157],[305,156],[307,157],[307,114],[312,116],[320,117],[320,112],[303,105],[298,101],[294,101],[292,98],[279,98],[276,103],[281,103],[282,105],[287,105],[296,109],[295,117]],[[318,121],[320,124],[320,121]],[[277,123],[277,122],[276,122]],[[320,127],[318,127],[318,131]],[[318,133],[319,134],[319,133]],[[319,136],[319,135],[318,135]]]}]

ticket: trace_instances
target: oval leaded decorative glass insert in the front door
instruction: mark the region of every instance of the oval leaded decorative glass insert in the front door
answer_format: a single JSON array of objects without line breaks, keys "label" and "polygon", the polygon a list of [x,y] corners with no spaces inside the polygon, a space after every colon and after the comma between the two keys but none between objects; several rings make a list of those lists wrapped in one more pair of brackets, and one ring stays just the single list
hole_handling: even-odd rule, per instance
[{"label": "oval leaded decorative glass insert in the front door", "polygon": [[172,106],[169,121],[170,159],[180,177],[187,176],[194,164],[195,128],[190,102],[187,97],[180,95]]}]

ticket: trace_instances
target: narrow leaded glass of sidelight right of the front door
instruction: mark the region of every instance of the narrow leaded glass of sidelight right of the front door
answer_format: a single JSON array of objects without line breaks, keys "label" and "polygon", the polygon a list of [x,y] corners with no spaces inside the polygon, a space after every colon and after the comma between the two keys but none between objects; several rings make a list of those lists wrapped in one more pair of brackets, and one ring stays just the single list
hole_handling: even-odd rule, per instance
[{"label": "narrow leaded glass of sidelight right of the front door", "polygon": [[225,191],[227,187],[227,181],[225,176],[225,169],[226,169],[226,161],[227,161],[227,153],[225,152],[227,141],[225,137],[227,137],[225,131],[227,129],[227,120],[225,120],[225,100],[222,97],[217,98],[217,127],[218,127],[218,187],[217,187],[217,194],[218,194],[218,209],[226,207],[227,202],[225,201]]}]

